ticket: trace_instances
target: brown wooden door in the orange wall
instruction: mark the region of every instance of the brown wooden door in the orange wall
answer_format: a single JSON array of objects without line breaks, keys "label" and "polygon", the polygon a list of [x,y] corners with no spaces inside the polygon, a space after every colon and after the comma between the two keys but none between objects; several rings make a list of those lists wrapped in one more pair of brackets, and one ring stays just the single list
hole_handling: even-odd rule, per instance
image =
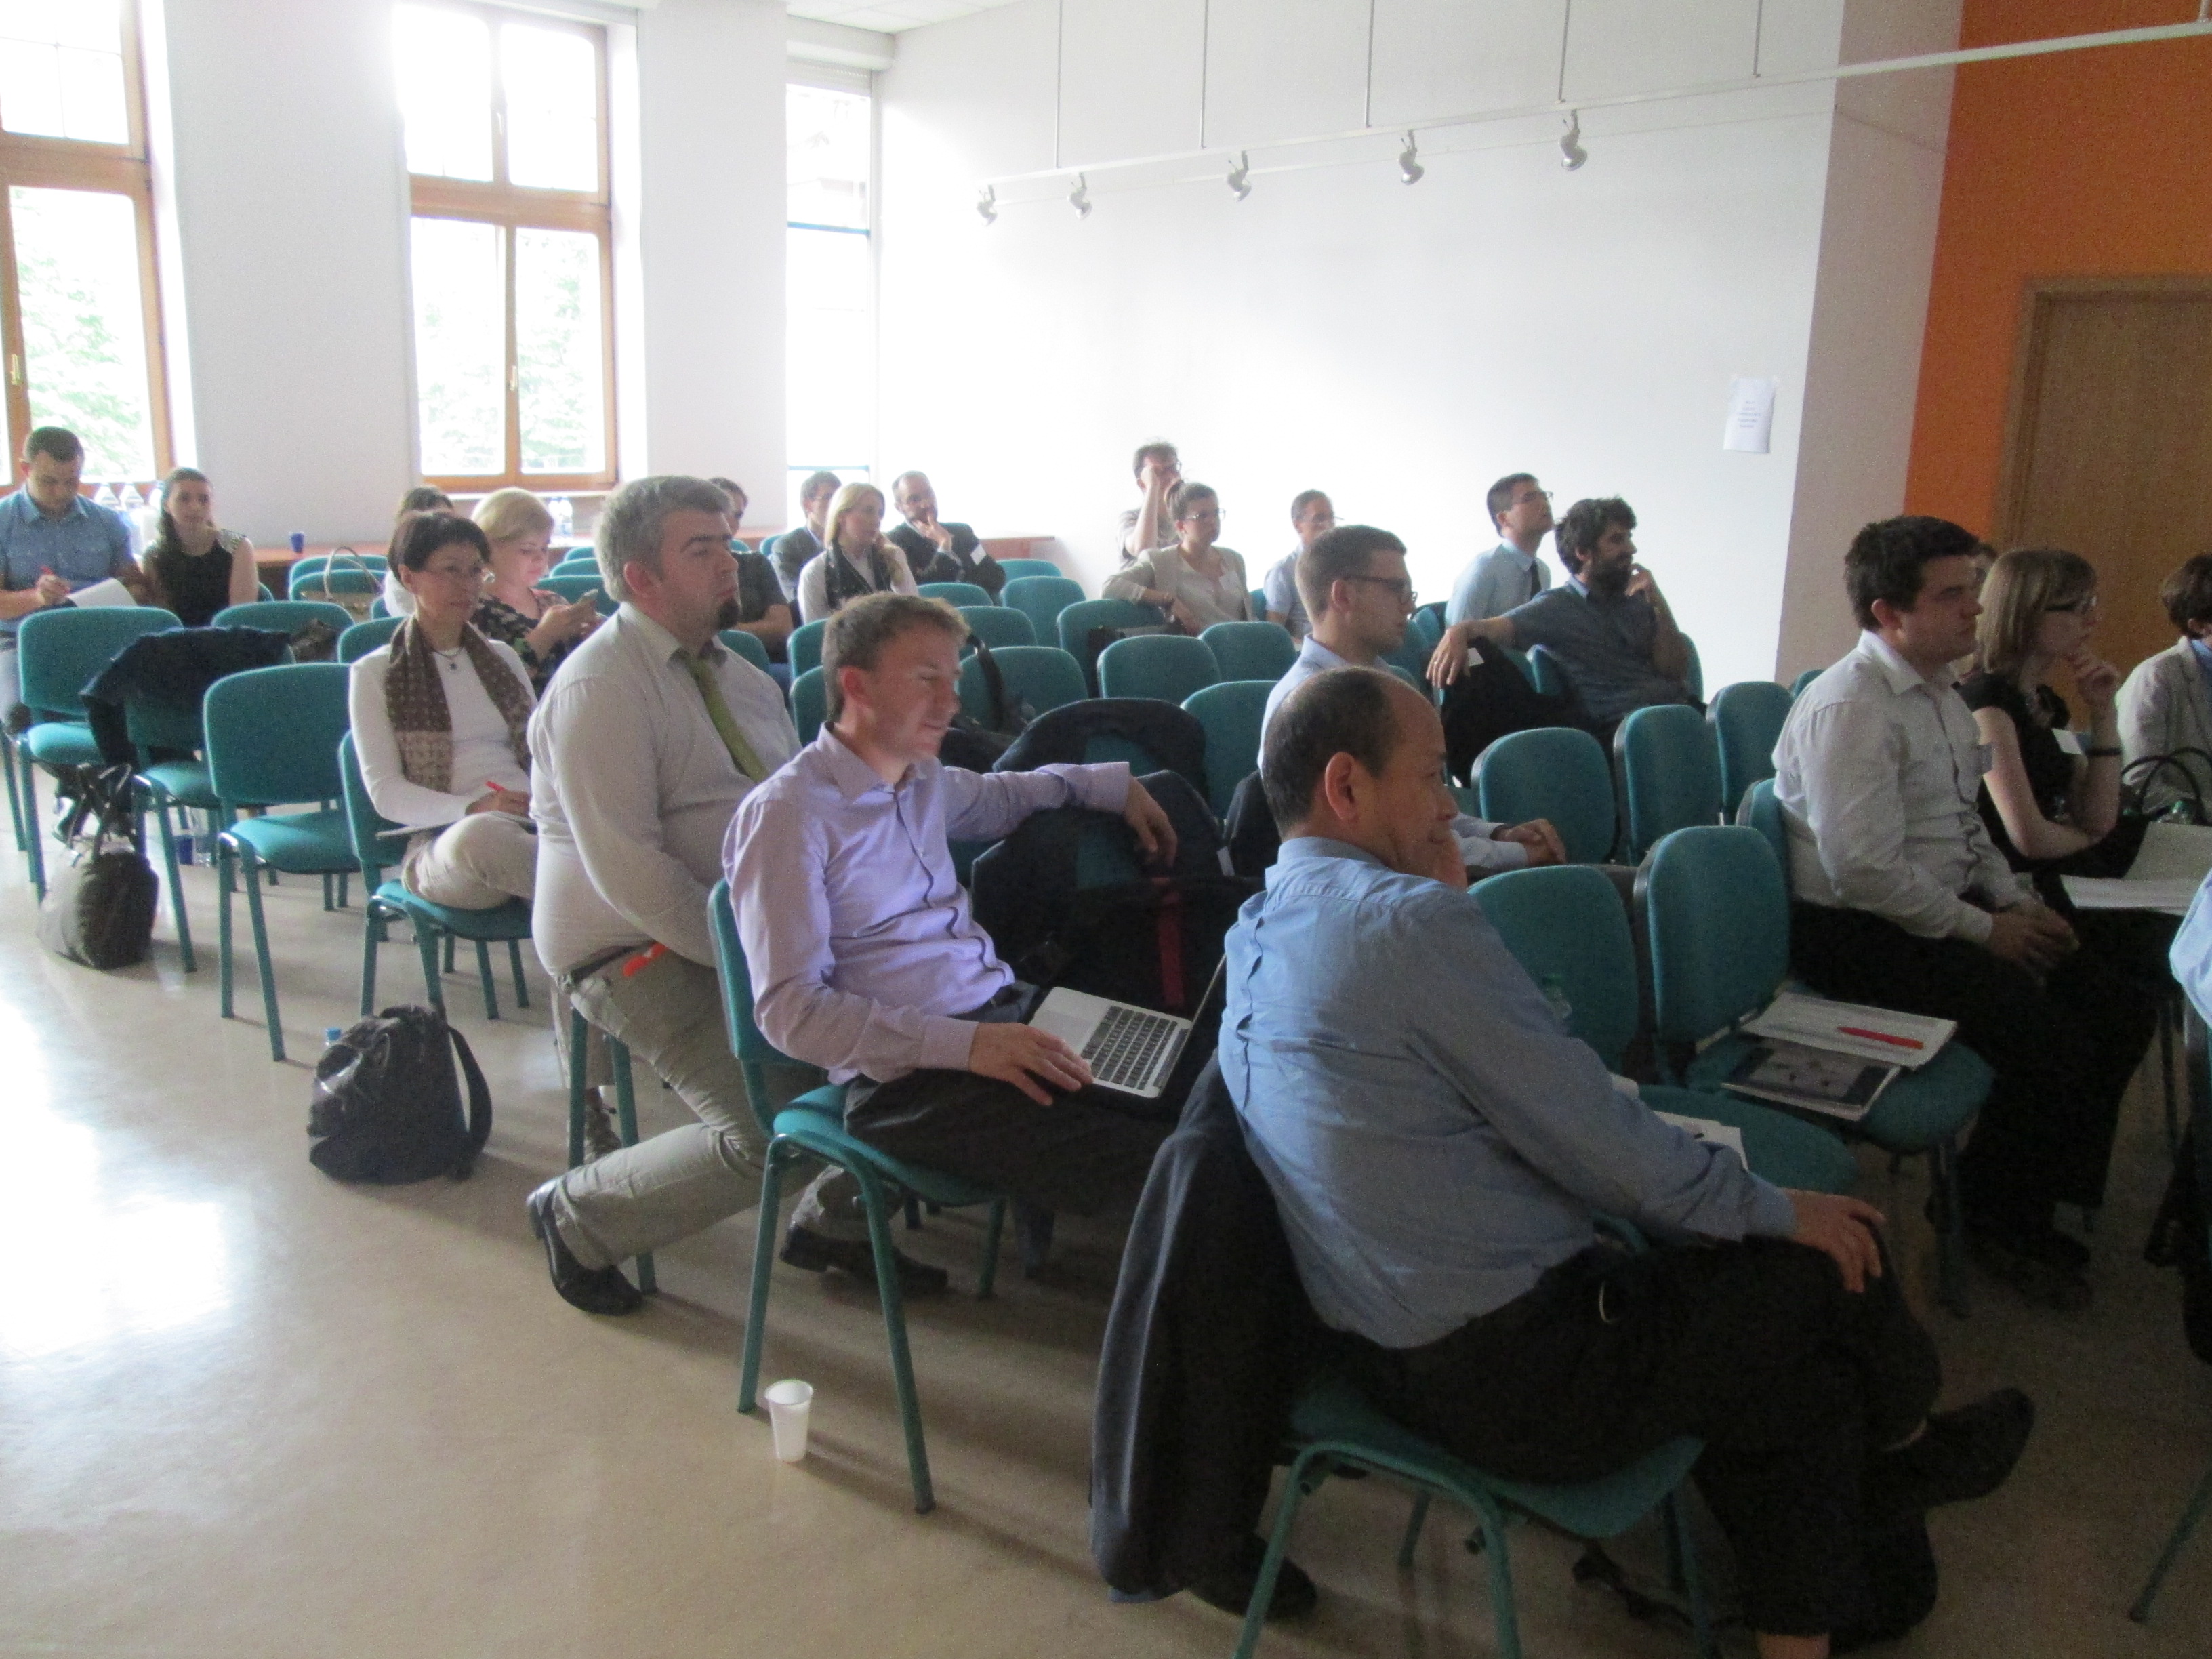
[{"label": "brown wooden door in the orange wall", "polygon": [[2212,279],[2028,283],[1997,546],[2097,566],[2095,650],[2121,672],[2174,641],[2159,584],[2212,553]]}]

